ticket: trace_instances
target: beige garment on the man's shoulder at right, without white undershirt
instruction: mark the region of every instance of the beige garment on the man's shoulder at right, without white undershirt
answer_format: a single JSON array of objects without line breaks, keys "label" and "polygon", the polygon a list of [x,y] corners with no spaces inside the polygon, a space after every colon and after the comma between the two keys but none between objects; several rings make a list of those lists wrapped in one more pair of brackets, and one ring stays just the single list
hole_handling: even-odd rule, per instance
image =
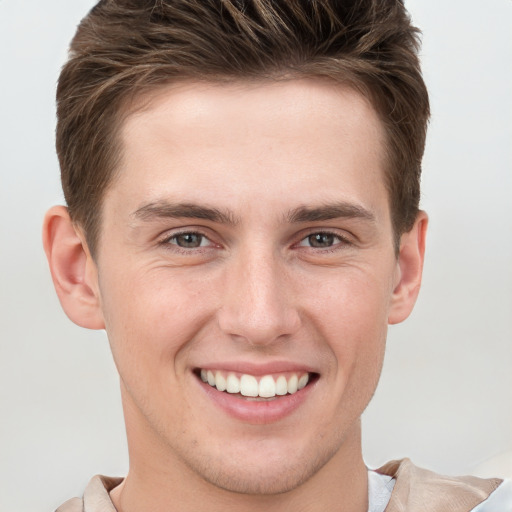
[{"label": "beige garment on the man's shoulder at right, without white undershirt", "polygon": [[377,472],[396,482],[386,512],[512,512],[512,489],[499,478],[439,475],[408,459],[388,462]]}]

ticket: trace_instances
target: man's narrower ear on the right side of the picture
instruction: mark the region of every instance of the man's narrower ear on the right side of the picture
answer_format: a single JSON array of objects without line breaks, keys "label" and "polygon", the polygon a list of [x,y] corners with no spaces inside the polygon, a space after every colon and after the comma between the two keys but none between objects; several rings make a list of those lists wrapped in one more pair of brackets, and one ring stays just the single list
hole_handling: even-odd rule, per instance
[{"label": "man's narrower ear on the right side of the picture", "polygon": [[400,239],[397,280],[388,316],[389,324],[403,322],[411,313],[421,285],[428,216],[420,211],[413,228]]}]

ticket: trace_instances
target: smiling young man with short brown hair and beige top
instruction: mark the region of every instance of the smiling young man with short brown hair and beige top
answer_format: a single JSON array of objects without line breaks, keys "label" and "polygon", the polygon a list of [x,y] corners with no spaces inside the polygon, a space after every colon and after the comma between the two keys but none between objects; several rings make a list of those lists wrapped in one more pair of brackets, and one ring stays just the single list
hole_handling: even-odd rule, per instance
[{"label": "smiling young man with short brown hair and beige top", "polygon": [[511,509],[501,480],[362,459],[421,281],[416,34],[391,0],[107,0],[82,21],[44,245],[67,315],[108,333],[130,469],[59,511]]}]

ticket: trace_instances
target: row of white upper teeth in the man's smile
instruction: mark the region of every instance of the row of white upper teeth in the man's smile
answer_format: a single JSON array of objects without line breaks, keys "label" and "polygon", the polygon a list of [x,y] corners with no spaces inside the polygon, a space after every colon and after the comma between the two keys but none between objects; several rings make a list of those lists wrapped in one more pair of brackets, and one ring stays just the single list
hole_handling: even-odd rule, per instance
[{"label": "row of white upper teeth in the man's smile", "polygon": [[201,380],[219,391],[228,393],[240,393],[243,396],[272,398],[276,395],[296,393],[306,386],[309,374],[292,373],[288,377],[280,375],[274,378],[272,375],[264,375],[258,379],[254,375],[234,373],[227,375],[221,371],[201,370]]}]

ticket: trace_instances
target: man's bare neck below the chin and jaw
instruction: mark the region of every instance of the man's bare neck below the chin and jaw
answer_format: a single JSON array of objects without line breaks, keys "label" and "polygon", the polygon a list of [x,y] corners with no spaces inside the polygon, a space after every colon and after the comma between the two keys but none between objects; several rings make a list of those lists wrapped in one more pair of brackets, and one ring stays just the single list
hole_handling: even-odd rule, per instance
[{"label": "man's bare neck below the chin and jaw", "polygon": [[147,433],[140,435],[143,433],[127,428],[130,470],[124,482],[111,492],[118,512],[196,512],[205,508],[209,512],[368,510],[360,422],[347,432],[340,448],[313,476],[279,494],[243,494],[217,487],[180,458],[166,453],[161,442],[148,441]]}]

